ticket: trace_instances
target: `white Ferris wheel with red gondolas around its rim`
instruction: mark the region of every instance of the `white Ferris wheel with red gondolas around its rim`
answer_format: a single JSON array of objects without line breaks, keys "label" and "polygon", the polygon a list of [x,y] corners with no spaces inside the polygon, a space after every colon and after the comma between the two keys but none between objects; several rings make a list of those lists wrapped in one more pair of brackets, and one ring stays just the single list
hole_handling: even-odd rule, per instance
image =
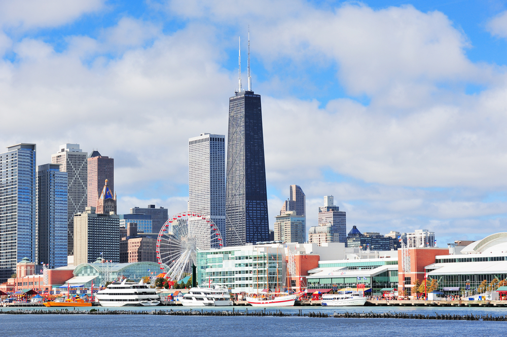
[{"label": "white Ferris wheel with red gondolas around its rim", "polygon": [[197,266],[198,249],[222,247],[222,234],[209,216],[183,212],[171,216],[162,226],[156,252],[165,277],[178,282],[192,275],[192,265]]}]

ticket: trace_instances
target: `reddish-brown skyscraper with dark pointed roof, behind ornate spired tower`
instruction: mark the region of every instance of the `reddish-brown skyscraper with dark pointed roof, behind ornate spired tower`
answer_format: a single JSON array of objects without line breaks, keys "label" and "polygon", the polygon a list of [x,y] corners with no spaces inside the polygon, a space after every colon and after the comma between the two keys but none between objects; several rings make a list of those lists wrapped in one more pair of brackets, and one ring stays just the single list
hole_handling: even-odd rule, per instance
[{"label": "reddish-brown skyscraper with dark pointed roof, behind ornate spired tower", "polygon": [[88,206],[97,207],[106,179],[110,189],[115,191],[115,160],[93,151],[88,156]]}]

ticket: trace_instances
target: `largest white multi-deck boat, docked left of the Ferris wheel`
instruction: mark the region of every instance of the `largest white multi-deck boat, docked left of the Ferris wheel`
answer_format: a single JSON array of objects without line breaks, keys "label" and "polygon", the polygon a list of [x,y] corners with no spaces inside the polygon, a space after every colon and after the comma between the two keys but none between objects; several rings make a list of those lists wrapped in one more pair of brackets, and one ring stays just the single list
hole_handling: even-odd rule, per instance
[{"label": "largest white multi-deck boat, docked left of the Ferris wheel", "polygon": [[155,305],[153,301],[159,302],[157,290],[150,288],[142,280],[139,283],[127,282],[127,280],[113,282],[107,288],[97,292],[95,297],[102,307],[141,306],[142,302]]}]

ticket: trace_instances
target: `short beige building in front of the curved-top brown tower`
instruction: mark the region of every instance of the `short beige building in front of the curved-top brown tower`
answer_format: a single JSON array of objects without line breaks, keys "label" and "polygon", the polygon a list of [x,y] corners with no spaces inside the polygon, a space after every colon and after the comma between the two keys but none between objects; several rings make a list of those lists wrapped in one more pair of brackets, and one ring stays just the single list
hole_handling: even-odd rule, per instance
[{"label": "short beige building in front of the curved-top brown tower", "polygon": [[275,216],[275,240],[283,242],[306,242],[306,216],[297,215],[296,211],[285,211]]}]

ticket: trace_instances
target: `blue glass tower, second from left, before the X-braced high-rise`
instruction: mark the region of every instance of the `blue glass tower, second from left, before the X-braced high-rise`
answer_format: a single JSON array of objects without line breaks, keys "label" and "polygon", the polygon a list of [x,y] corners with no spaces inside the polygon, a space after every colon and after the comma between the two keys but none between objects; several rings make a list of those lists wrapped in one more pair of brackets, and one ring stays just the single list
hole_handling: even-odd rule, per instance
[{"label": "blue glass tower, second from left, before the X-braced high-rise", "polygon": [[60,164],[37,168],[38,262],[50,269],[67,265],[67,172]]}]

